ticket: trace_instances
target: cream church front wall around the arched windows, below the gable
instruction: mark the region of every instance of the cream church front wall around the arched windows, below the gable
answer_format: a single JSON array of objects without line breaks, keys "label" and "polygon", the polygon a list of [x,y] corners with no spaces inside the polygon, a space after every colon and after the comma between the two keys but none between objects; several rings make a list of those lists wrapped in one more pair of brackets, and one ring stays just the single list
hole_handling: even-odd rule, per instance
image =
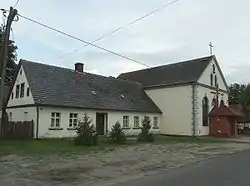
[{"label": "cream church front wall around the arched windows, below the gable", "polygon": [[[208,77],[209,78],[209,77]],[[209,135],[209,126],[203,126],[202,125],[202,101],[204,97],[206,96],[208,98],[208,105],[209,105],[209,112],[212,110],[213,105],[212,105],[212,100],[215,98],[215,94],[212,94],[211,92],[215,92],[214,89],[211,88],[206,88],[202,86],[198,86],[198,112],[197,114],[197,123],[198,123],[198,130],[199,130],[199,135]],[[219,91],[220,94],[223,94],[223,96],[219,96],[219,103],[221,99],[224,100],[225,105],[228,105],[228,93],[221,92]]]}]

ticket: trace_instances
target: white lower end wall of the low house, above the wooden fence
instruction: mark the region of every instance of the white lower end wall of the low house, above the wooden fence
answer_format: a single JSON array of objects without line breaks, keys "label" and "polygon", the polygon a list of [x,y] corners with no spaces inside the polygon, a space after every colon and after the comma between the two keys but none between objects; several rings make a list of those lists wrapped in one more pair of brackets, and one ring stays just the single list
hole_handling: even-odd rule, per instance
[{"label": "white lower end wall of the low house, above the wooden fence", "polygon": [[[9,120],[11,121],[34,121],[34,137],[36,137],[37,128],[37,108],[36,107],[23,107],[23,108],[8,108],[6,109]],[[25,113],[26,112],[26,113]],[[12,118],[10,118],[12,113]]]}]

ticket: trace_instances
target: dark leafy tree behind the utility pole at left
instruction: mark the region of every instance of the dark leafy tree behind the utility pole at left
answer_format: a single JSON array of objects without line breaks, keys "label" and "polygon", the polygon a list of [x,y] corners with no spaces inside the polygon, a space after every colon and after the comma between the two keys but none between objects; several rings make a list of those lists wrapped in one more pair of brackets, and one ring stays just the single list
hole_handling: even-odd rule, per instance
[{"label": "dark leafy tree behind the utility pole at left", "polygon": [[[3,39],[4,39],[4,26],[0,25],[0,51],[2,51],[3,47]],[[6,69],[6,78],[5,85],[11,86],[14,81],[14,75],[17,68],[17,64],[15,61],[17,60],[17,46],[15,42],[9,41],[8,48],[8,61],[7,61],[7,69]],[[1,72],[0,72],[1,73]]]}]

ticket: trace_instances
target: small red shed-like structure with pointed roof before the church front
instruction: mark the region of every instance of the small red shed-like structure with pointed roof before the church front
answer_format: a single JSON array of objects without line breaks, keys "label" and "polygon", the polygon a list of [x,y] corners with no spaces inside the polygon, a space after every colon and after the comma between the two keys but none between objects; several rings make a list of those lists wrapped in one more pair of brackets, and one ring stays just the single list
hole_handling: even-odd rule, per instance
[{"label": "small red shed-like structure with pointed roof before the church front", "polygon": [[210,135],[221,137],[237,136],[237,117],[240,114],[233,109],[227,107],[222,100],[220,106],[215,106],[210,116]]}]

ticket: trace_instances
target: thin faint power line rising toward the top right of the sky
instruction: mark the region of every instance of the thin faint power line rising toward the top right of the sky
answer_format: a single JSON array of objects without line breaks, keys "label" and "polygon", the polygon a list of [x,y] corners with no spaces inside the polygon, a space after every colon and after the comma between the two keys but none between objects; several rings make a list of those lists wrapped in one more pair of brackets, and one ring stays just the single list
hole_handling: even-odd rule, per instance
[{"label": "thin faint power line rising toward the top right of the sky", "polygon": [[[100,40],[102,40],[102,39],[104,39],[104,38],[106,38],[106,37],[108,37],[108,36],[110,36],[110,35],[112,35],[112,34],[118,32],[118,31],[120,31],[120,30],[126,28],[126,27],[129,27],[129,26],[131,26],[131,25],[137,23],[138,21],[140,21],[140,20],[142,20],[142,19],[144,19],[144,18],[146,18],[146,17],[148,17],[148,16],[150,16],[150,15],[153,15],[153,14],[155,14],[155,13],[161,11],[162,9],[164,9],[164,8],[166,8],[166,7],[168,7],[168,6],[173,5],[174,3],[177,3],[178,1],[180,1],[180,0],[174,0],[174,1],[170,2],[170,3],[167,3],[167,4],[163,5],[163,6],[161,6],[160,8],[157,8],[157,9],[155,9],[155,10],[153,10],[153,11],[151,11],[151,12],[145,14],[145,15],[143,15],[142,17],[139,17],[139,18],[137,18],[137,19],[135,19],[135,20],[133,20],[133,21],[127,23],[127,24],[124,25],[124,26],[118,27],[118,28],[116,28],[115,30],[113,30],[113,31],[111,31],[111,32],[108,32],[108,33],[102,35],[101,37],[99,37],[99,38],[97,38],[97,39],[91,41],[90,43],[92,43],[92,44],[93,44],[93,43],[96,43],[97,41],[100,41]],[[75,48],[75,49],[72,50],[71,52],[68,52],[68,53],[62,55],[61,57],[59,57],[59,60],[65,58],[65,57],[67,57],[67,56],[69,56],[69,55],[71,55],[71,54],[73,54],[73,53],[75,53],[75,52],[81,50],[82,48],[87,47],[87,46],[89,46],[89,44],[86,44],[86,45],[84,45],[83,47]]]}]

